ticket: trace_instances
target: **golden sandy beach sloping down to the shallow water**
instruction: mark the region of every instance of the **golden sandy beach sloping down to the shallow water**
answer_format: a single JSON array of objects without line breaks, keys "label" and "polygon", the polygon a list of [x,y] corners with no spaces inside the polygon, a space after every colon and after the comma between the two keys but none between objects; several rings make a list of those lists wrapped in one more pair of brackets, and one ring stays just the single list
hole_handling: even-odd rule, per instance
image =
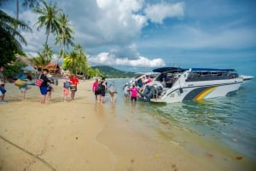
[{"label": "golden sandy beach sloping down to the shallow water", "polygon": [[[172,135],[165,135],[163,130],[156,133],[140,125],[132,115],[119,117],[115,104],[96,103],[91,84],[92,81],[81,81],[76,100],[62,102],[59,83],[52,101],[46,105],[40,104],[38,88],[32,87],[27,91],[26,101],[21,101],[19,89],[14,84],[6,84],[9,103],[0,105],[0,170],[254,169],[251,161],[236,159],[238,154],[223,152],[204,142],[201,146],[193,143],[200,140],[193,141],[195,137],[189,133],[180,140],[177,138],[180,133],[175,129]],[[133,111],[131,108],[124,112]],[[173,140],[163,141],[159,139],[160,134],[173,136]],[[190,140],[193,147],[188,151],[182,143]]]}]

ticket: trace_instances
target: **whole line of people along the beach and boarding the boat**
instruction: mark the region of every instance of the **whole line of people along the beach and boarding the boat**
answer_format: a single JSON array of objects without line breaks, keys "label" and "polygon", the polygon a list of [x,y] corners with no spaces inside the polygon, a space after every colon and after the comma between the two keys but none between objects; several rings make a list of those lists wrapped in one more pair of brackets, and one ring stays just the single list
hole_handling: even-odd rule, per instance
[{"label": "whole line of people along the beach and boarding the boat", "polygon": [[[4,95],[6,93],[6,89],[4,88],[4,77],[3,77],[3,66],[0,67],[0,103],[4,104],[7,103],[7,100],[4,100]],[[20,80],[26,81],[25,84],[23,84],[20,88],[21,97],[22,100],[26,99],[26,90],[30,89],[28,85],[32,83],[32,76],[27,75],[25,76],[23,74],[23,71],[20,71],[19,77]],[[38,79],[41,80],[41,83],[39,85],[40,93],[42,94],[41,97],[41,104],[45,104],[46,101],[51,100],[51,94],[55,91],[53,84],[55,81],[52,79],[52,76],[49,74],[49,71],[47,69],[44,69]],[[143,85],[146,83],[150,83],[150,77],[146,78],[143,77]],[[79,79],[76,77],[76,75],[71,75],[69,77],[68,75],[64,76],[64,82],[63,82],[63,101],[66,102],[68,99],[68,95],[71,94],[71,100],[75,99],[75,93],[77,91],[79,84]],[[115,88],[114,82],[110,83],[108,86],[108,83],[105,79],[105,77],[102,77],[102,79],[96,78],[96,81],[92,85],[92,91],[96,96],[96,100],[103,104],[104,98],[106,96],[106,93],[108,92],[111,97],[111,102],[115,102],[117,98],[117,89]],[[131,97],[131,101],[137,101],[137,95],[139,94],[139,88],[136,87],[135,84],[131,85],[131,87],[128,86],[128,83],[126,83],[124,87],[125,92],[125,98],[126,100],[129,100],[129,97]]]}]

